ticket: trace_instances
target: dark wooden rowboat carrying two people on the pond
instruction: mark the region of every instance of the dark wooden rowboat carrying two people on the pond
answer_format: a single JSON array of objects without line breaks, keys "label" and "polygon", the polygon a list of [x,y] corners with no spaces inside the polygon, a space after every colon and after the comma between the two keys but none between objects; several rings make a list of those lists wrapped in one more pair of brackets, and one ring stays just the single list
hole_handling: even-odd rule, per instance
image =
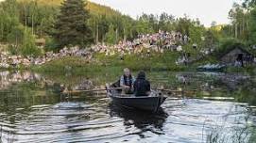
[{"label": "dark wooden rowboat carrying two people on the pond", "polygon": [[[108,88],[108,87],[107,87]],[[108,96],[112,102],[129,109],[145,110],[150,112],[158,112],[166,97],[161,92],[152,90],[149,96],[136,97],[134,94],[122,94],[120,89],[107,90]]]}]

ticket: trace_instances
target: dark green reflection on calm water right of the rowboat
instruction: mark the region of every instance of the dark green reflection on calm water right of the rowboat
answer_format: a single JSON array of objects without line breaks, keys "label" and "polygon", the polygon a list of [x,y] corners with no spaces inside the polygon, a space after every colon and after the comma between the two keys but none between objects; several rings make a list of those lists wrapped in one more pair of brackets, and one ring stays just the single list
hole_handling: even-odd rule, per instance
[{"label": "dark green reflection on calm water right of the rowboat", "polygon": [[[256,104],[256,82],[239,73],[178,72],[154,78],[156,87],[197,89],[196,96],[233,97],[238,102]],[[157,75],[154,75],[157,76]],[[154,83],[153,83],[154,84]]]}]

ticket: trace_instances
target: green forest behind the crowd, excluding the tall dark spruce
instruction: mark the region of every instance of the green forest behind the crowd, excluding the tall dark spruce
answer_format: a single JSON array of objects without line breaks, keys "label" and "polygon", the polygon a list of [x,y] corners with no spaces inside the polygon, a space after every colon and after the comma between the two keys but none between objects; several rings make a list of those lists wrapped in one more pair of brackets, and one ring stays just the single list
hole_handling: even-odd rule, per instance
[{"label": "green forest behind the crowd, excluding the tall dark spruce", "polygon": [[[43,51],[59,51],[63,46],[73,45],[70,40],[60,41],[57,28],[61,18],[62,0],[6,0],[0,3],[0,42],[8,44],[11,54],[40,56],[35,41],[45,40]],[[242,5],[233,4],[230,9],[230,24],[216,24],[205,27],[198,19],[189,16],[175,17],[168,13],[161,15],[142,14],[132,19],[121,12],[85,1],[80,4],[88,16],[85,23],[90,32],[81,48],[89,44],[105,42],[115,44],[120,40],[133,40],[140,34],[162,31],[177,31],[190,37],[190,45],[196,43],[201,48],[215,46],[227,48],[234,43],[246,45],[248,50],[256,43],[256,1],[245,0]],[[64,20],[65,21],[65,20]],[[71,24],[76,24],[73,22]],[[80,23],[80,22],[79,22]],[[59,23],[60,24],[60,23]],[[88,33],[88,31],[87,31]],[[63,34],[63,33],[62,33]],[[65,33],[64,33],[65,34]],[[77,39],[79,39],[77,37]]]}]

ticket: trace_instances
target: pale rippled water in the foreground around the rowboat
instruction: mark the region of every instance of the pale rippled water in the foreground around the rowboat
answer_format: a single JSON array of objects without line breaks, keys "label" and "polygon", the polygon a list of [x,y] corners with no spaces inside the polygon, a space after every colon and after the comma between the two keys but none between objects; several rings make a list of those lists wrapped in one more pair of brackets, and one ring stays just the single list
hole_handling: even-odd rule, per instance
[{"label": "pale rippled water in the foreground around the rowboat", "polygon": [[[167,99],[160,113],[128,111],[109,103],[33,105],[1,114],[4,141],[15,142],[189,142],[207,135],[232,135],[253,124],[247,104]],[[11,118],[14,119],[11,119]],[[227,142],[231,142],[228,140]]]}]

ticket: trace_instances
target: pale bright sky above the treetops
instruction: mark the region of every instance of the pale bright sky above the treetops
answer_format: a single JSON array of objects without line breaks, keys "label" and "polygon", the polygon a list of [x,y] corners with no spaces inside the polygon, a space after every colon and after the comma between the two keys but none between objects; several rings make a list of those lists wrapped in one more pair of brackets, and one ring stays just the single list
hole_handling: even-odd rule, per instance
[{"label": "pale bright sky above the treetops", "polygon": [[91,0],[95,3],[110,6],[133,18],[142,13],[161,14],[166,12],[176,17],[184,14],[190,18],[198,18],[206,26],[212,22],[229,24],[230,8],[234,2],[241,0]]}]

